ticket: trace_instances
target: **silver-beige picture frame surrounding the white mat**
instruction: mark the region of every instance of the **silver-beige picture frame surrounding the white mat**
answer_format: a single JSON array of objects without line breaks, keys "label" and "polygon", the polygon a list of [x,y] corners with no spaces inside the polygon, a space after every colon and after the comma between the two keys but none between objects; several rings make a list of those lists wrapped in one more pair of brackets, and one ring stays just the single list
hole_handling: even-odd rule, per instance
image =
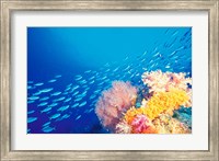
[{"label": "silver-beige picture frame surrounding the white mat", "polygon": [[[219,1],[218,0],[1,0],[0,139],[1,160],[219,160]],[[208,150],[12,150],[11,15],[13,11],[207,11],[208,12]]]}]

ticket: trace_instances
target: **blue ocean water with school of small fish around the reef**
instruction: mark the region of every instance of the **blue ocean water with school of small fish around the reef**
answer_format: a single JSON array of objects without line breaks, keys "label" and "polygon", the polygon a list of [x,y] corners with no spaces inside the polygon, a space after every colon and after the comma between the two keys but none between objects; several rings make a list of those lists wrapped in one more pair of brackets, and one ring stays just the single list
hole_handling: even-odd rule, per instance
[{"label": "blue ocean water with school of small fish around the reef", "polygon": [[155,70],[192,77],[192,27],[27,27],[27,133],[108,133],[102,91]]}]

